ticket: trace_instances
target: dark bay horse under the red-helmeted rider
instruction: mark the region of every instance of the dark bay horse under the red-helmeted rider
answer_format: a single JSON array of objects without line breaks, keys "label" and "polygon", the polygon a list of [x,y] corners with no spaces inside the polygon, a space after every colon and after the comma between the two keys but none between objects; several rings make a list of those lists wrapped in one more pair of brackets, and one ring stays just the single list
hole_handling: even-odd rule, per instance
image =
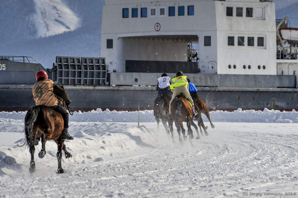
[{"label": "dark bay horse under the red-helmeted rider", "polygon": [[[64,103],[65,107],[65,103]],[[46,154],[46,141],[54,140],[58,145],[57,159],[58,159],[58,173],[63,173],[61,167],[62,149],[65,157],[69,158],[72,155],[66,151],[64,140],[61,134],[64,128],[64,121],[60,113],[54,111],[51,107],[44,105],[32,106],[25,116],[25,134],[27,145],[31,154],[30,173],[35,171],[34,151],[35,138],[41,138],[42,149],[38,153],[39,158],[43,158]],[[36,142],[36,145],[38,142]]]}]

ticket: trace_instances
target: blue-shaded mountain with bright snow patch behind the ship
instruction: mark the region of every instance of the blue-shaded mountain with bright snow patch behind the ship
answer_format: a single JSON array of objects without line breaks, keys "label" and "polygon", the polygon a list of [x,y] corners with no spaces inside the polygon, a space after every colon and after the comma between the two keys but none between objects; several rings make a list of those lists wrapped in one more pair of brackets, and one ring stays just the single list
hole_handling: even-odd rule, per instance
[{"label": "blue-shaded mountain with bright snow patch behind the ship", "polygon": [[[298,27],[297,0],[275,0],[276,18]],[[30,56],[52,68],[56,56],[100,57],[103,0],[1,1],[0,55]]]}]

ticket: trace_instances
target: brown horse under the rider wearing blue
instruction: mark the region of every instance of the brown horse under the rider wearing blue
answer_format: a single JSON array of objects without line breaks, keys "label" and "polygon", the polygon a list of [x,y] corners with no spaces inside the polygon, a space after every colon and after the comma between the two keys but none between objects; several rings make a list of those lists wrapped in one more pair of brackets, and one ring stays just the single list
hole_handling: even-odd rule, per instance
[{"label": "brown horse under the rider wearing blue", "polygon": [[195,119],[198,121],[198,126],[200,127],[201,134],[203,134],[203,131],[201,127],[203,128],[205,135],[209,135],[208,132],[206,131],[208,127],[205,127],[203,123],[203,119],[201,116],[201,113],[205,114],[207,118],[209,119],[211,128],[214,129],[214,124],[211,122],[210,115],[209,115],[209,110],[204,101],[200,98],[193,98],[193,103],[195,104],[195,110],[198,112],[198,114],[195,116]]}]

